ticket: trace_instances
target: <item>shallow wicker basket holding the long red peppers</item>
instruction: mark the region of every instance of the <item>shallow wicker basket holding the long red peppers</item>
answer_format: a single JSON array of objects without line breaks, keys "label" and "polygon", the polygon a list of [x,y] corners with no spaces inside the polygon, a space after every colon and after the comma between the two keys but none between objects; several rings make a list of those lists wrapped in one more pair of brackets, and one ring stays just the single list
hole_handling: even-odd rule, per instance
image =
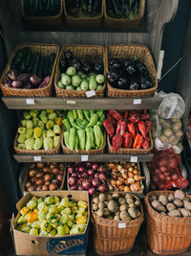
[{"label": "shallow wicker basket holding the long red peppers", "polygon": [[113,146],[111,145],[110,136],[107,135],[108,151],[110,153],[149,153],[150,151],[153,150],[153,140],[152,140],[152,137],[151,137],[151,131],[149,131],[149,138],[150,138],[150,147],[147,150],[144,150],[144,149],[125,149],[125,148],[120,148],[116,152],[116,151],[114,151]]}]

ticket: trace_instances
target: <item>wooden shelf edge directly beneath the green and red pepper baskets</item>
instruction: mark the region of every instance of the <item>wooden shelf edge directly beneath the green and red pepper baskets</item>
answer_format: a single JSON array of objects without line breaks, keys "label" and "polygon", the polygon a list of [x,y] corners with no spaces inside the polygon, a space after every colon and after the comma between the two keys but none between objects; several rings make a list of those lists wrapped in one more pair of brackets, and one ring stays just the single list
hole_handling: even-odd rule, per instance
[{"label": "wooden shelf edge directly beneath the green and red pepper baskets", "polygon": [[[87,155],[87,154],[86,154]],[[83,154],[14,154],[14,159],[19,163],[28,163],[34,161],[41,162],[81,162]],[[138,156],[138,162],[149,162],[153,154],[119,154],[102,153],[88,154],[88,162],[108,162],[108,161],[131,161],[132,156]],[[36,159],[37,157],[37,159]],[[41,159],[39,159],[40,157]]]}]

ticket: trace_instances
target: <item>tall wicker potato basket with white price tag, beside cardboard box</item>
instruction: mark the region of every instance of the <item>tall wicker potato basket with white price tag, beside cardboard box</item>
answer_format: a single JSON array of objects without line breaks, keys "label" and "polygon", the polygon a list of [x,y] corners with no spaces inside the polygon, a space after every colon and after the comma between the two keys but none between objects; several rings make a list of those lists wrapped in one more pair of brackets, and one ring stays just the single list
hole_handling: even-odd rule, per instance
[{"label": "tall wicker potato basket with white price tag, beside cardboard box", "polygon": [[[141,204],[140,210],[141,216],[134,221],[113,221],[98,217],[91,207],[96,253],[100,255],[128,253],[135,243],[140,224],[144,219]],[[123,223],[126,227],[118,228],[119,223]]]}]

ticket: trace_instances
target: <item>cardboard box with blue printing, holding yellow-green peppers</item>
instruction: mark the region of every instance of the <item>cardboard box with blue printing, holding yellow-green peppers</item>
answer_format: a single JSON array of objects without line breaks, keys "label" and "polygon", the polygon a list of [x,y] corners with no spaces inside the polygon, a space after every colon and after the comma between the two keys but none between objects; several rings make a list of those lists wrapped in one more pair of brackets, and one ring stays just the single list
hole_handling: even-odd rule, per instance
[{"label": "cardboard box with blue printing, holding yellow-green peppers", "polygon": [[[84,200],[89,204],[88,192],[86,191],[39,191],[27,193],[21,198],[16,207],[18,211],[26,205],[33,197],[46,198],[46,196],[59,196],[61,198],[69,197],[74,200]],[[67,235],[61,237],[40,237],[32,236],[15,229],[15,223],[20,217],[12,215],[11,234],[17,255],[86,255],[88,243],[88,232],[90,222],[90,209],[88,207],[88,222],[84,233],[78,235]]]}]

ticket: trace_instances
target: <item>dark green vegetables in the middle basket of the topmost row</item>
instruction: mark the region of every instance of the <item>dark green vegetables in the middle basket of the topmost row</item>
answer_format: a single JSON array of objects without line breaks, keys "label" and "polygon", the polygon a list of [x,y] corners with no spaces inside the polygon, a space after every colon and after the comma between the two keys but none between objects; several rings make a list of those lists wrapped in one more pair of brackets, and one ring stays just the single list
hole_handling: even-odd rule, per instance
[{"label": "dark green vegetables in the middle basket of the topmost row", "polygon": [[94,17],[101,11],[101,0],[66,0],[67,12],[74,17]]}]

